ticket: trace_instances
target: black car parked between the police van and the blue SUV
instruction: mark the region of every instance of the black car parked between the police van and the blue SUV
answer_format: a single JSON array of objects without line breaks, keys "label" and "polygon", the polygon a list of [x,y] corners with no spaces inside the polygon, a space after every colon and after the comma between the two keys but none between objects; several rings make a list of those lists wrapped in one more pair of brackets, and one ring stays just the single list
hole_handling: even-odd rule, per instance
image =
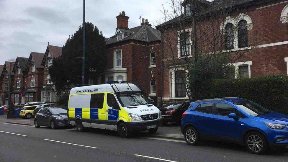
[{"label": "black car parked between the police van and the blue SUV", "polygon": [[168,122],[176,122],[180,124],[181,115],[188,109],[190,102],[172,103],[165,107],[160,108],[162,114],[162,125],[166,125]]}]

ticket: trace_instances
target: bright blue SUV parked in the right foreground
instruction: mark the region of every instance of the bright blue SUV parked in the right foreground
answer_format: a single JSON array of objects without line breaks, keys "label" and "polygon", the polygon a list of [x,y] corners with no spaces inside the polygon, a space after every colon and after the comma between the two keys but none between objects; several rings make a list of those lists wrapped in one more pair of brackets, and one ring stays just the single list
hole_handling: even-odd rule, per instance
[{"label": "bright blue SUV parked in the right foreground", "polygon": [[180,127],[189,145],[200,139],[223,140],[242,143],[255,154],[288,146],[288,115],[241,98],[192,102]]}]

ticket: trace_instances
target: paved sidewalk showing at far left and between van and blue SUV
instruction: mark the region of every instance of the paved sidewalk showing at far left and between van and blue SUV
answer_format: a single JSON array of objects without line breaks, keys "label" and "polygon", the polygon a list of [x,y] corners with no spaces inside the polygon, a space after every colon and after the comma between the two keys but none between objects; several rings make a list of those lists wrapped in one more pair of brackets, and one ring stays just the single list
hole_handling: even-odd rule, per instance
[{"label": "paved sidewalk showing at far left and between van and blue SUV", "polygon": [[[32,125],[34,126],[34,119],[23,119],[23,118],[9,118],[7,119],[7,114],[0,115],[1,123],[10,124],[20,124],[20,125]],[[144,137],[158,137],[158,138],[168,138],[176,140],[184,140],[184,135],[181,134],[180,126],[176,124],[167,124],[166,126],[161,126],[158,131],[154,134],[150,134],[148,131],[138,132],[137,135]]]}]

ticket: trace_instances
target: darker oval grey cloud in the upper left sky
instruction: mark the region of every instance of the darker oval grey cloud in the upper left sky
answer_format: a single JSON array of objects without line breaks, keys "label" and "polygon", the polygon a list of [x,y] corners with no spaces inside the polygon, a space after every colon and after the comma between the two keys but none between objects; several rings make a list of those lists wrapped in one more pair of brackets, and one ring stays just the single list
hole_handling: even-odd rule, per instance
[{"label": "darker oval grey cloud in the upper left sky", "polygon": [[38,7],[38,6],[28,7],[27,9],[25,9],[24,12],[26,12],[31,17],[50,23],[56,23],[56,24],[70,23],[68,17],[63,16],[63,13],[61,13],[58,10],[47,7]]}]

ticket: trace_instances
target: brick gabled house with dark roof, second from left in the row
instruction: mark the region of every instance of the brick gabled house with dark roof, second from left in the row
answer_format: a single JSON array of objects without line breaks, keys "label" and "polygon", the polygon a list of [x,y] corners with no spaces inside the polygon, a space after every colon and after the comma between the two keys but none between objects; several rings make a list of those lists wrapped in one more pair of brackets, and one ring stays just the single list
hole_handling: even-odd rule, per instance
[{"label": "brick gabled house with dark roof, second from left in the row", "polygon": [[24,91],[27,90],[27,70],[26,65],[29,58],[17,57],[12,73],[14,73],[14,84],[11,91],[12,102],[15,104],[25,104]]}]

